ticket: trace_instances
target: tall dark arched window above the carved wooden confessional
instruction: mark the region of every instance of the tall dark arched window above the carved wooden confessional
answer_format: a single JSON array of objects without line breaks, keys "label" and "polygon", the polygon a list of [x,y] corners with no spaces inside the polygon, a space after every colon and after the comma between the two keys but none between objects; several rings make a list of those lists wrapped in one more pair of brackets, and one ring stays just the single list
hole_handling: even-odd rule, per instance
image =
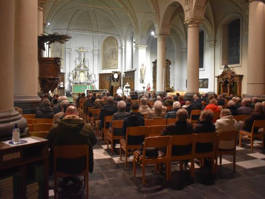
[{"label": "tall dark arched window above the carved wooden confessional", "polygon": [[240,19],[228,24],[228,64],[240,62]]}]

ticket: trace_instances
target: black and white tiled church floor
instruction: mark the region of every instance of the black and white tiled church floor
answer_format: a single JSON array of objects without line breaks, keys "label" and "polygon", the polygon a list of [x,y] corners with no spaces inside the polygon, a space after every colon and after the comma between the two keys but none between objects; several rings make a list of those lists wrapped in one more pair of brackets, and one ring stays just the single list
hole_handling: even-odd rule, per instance
[{"label": "black and white tiled church floor", "polygon": [[[196,165],[194,179],[190,178],[189,165],[178,171],[177,163],[173,164],[169,182],[165,181],[164,173],[155,175],[154,167],[149,166],[145,186],[141,185],[141,168],[137,168],[136,178],[133,177],[132,156],[125,167],[124,156],[121,161],[119,154],[110,155],[106,145],[101,144],[99,141],[93,150],[89,199],[265,199],[265,154],[261,153],[259,141],[255,141],[253,152],[248,143],[237,147],[235,172],[232,156],[223,156],[216,176],[211,174],[210,167],[199,169]],[[52,179],[50,188],[53,188]],[[53,190],[49,193],[53,199]],[[66,194],[61,198],[81,199],[81,195]]]}]

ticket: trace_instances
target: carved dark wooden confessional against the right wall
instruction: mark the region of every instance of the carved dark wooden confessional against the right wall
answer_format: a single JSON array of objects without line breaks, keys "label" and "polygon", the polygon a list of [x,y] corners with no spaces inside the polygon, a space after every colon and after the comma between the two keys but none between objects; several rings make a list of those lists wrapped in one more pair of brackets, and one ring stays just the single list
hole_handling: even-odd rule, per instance
[{"label": "carved dark wooden confessional against the right wall", "polygon": [[226,96],[230,96],[230,94],[234,94],[241,96],[242,74],[235,74],[226,65],[223,72],[215,77],[217,77],[218,95],[225,94]]}]

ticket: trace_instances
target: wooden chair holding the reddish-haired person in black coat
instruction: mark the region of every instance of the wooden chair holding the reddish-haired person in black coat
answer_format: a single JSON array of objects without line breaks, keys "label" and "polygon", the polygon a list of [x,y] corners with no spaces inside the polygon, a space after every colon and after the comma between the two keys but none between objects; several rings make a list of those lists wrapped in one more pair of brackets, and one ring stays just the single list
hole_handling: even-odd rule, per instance
[{"label": "wooden chair holding the reddish-haired person in black coat", "polygon": [[196,139],[197,143],[212,143],[212,150],[206,152],[198,152],[197,146],[195,149],[195,158],[202,159],[202,165],[204,165],[204,158],[210,157],[212,159],[212,173],[215,173],[215,153],[216,153],[216,145],[217,145],[217,133],[198,133]]}]

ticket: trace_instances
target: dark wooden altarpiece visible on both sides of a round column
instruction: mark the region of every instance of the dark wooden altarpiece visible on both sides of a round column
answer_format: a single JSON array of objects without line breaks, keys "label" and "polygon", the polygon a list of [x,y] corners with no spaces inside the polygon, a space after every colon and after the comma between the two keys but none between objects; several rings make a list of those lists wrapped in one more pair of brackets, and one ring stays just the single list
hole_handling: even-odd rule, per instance
[{"label": "dark wooden altarpiece visible on both sides of a round column", "polygon": [[[153,89],[157,90],[157,59],[153,63]],[[166,59],[166,91],[171,92],[170,88],[170,65],[171,61]]]}]

